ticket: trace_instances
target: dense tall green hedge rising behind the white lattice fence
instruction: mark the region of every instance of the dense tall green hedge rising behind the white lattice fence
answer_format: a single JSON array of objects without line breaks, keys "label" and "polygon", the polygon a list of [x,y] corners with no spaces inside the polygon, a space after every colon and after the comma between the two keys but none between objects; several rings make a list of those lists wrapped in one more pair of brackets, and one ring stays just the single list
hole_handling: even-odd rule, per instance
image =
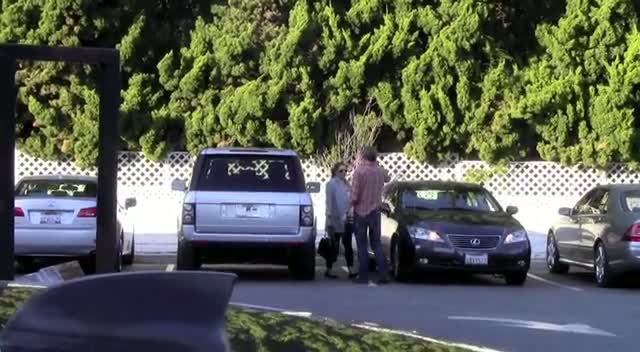
[{"label": "dense tall green hedge rising behind the white lattice fence", "polygon": [[[122,144],[330,146],[373,111],[410,156],[640,160],[640,0],[3,0],[0,41],[118,47]],[[19,145],[96,158],[95,70],[24,64]],[[373,109],[367,105],[372,101]]]}]

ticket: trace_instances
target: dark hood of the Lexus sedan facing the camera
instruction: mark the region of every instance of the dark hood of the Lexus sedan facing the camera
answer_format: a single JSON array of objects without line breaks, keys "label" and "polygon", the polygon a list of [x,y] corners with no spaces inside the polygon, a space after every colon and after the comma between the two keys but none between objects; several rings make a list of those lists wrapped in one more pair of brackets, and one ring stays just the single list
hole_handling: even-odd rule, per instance
[{"label": "dark hood of the Lexus sedan facing the camera", "polygon": [[507,213],[479,211],[405,210],[400,222],[442,233],[473,235],[496,235],[522,228],[518,220]]}]

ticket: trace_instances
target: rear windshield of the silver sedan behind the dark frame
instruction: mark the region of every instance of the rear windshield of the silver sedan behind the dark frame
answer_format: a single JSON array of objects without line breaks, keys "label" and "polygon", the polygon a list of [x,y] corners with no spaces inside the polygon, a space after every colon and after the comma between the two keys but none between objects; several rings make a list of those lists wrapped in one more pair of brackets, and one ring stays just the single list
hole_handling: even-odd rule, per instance
[{"label": "rear windshield of the silver sedan behind the dark frame", "polygon": [[29,180],[16,188],[16,197],[96,198],[98,185],[80,180]]}]

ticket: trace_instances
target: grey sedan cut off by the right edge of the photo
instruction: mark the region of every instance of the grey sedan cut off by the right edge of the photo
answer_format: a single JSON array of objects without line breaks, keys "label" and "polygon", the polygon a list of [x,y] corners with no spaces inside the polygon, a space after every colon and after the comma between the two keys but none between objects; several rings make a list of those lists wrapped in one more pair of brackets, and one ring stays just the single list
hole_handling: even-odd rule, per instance
[{"label": "grey sedan cut off by the right edge of the photo", "polygon": [[547,237],[549,271],[588,268],[602,287],[640,272],[640,185],[595,187],[559,213]]}]

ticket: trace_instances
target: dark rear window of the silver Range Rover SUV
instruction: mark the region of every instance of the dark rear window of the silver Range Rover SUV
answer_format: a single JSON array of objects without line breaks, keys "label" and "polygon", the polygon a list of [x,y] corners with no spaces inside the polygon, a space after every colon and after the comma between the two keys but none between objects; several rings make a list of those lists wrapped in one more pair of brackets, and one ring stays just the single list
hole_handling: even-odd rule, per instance
[{"label": "dark rear window of the silver Range Rover SUV", "polygon": [[227,192],[304,192],[304,175],[294,156],[207,155],[195,190]]}]

